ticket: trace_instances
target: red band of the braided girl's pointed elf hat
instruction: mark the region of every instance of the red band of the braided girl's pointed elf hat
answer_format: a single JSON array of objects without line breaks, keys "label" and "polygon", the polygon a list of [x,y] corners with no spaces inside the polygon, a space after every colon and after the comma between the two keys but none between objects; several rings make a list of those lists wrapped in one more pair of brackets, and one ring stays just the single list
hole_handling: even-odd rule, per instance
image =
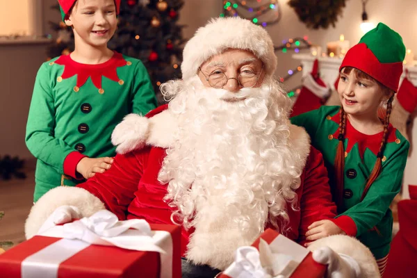
[{"label": "red band of the braided girl's pointed elf hat", "polygon": [[402,63],[380,63],[363,42],[347,51],[342,65],[339,67],[339,72],[341,72],[343,67],[354,67],[365,72],[394,92],[398,90],[402,74]]}]

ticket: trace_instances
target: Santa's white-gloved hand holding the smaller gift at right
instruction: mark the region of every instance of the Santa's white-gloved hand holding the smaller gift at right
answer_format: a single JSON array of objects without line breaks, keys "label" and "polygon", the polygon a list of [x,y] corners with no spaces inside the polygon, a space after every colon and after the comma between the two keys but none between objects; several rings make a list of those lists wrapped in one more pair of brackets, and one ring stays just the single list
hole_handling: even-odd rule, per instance
[{"label": "Santa's white-gloved hand holding the smaller gift at right", "polygon": [[327,278],[360,277],[361,268],[351,256],[337,254],[330,247],[313,251],[313,259],[327,266]]}]

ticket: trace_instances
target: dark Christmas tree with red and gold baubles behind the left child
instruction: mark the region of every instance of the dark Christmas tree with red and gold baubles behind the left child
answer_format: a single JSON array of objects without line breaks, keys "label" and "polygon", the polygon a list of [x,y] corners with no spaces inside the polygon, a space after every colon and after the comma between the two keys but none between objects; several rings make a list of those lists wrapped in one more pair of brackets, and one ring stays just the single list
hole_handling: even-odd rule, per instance
[{"label": "dark Christmas tree with red and gold baubles behind the left child", "polygon": [[[138,58],[145,64],[151,77],[159,104],[164,100],[159,85],[181,78],[182,28],[179,10],[183,0],[125,0],[120,4],[120,15],[115,35],[108,47],[121,54]],[[54,6],[59,13],[59,6]],[[74,34],[64,22],[51,22],[58,33],[49,47],[48,57],[70,54],[74,50]]]}]

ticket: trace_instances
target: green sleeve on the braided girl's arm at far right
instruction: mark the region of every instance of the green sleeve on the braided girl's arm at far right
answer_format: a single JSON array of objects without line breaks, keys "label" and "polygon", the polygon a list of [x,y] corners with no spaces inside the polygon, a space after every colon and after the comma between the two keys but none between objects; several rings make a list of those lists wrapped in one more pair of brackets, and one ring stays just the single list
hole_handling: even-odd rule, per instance
[{"label": "green sleeve on the braided girl's arm at far right", "polygon": [[395,195],[400,192],[408,150],[409,142],[404,140],[397,152],[394,152],[391,158],[382,164],[379,177],[370,186],[362,202],[341,214],[349,216],[355,222],[356,236],[361,236],[381,222]]}]

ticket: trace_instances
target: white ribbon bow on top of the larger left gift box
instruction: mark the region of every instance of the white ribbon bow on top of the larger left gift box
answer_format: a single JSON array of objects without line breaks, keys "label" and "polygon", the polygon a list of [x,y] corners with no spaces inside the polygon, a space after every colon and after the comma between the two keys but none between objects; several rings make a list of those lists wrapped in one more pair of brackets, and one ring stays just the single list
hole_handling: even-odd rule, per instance
[{"label": "white ribbon bow on top of the larger left gift box", "polygon": [[78,239],[92,245],[117,246],[128,250],[165,254],[158,244],[163,238],[158,236],[158,231],[151,230],[146,220],[119,221],[115,214],[106,210],[98,211],[89,218],[51,227],[40,236]]}]

